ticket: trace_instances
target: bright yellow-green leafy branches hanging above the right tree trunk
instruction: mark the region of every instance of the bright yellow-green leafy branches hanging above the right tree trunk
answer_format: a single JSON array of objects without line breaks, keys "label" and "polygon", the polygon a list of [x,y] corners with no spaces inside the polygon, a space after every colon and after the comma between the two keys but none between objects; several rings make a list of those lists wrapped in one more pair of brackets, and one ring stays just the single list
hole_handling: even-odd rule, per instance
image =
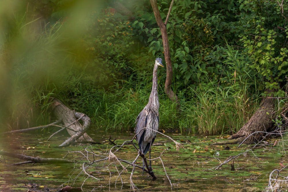
[{"label": "bright yellow-green leafy branches hanging above the right tree trunk", "polygon": [[[249,54],[249,67],[257,73],[259,90],[274,90],[275,96],[285,96],[281,90],[285,84],[285,76],[288,73],[287,63],[287,42],[283,41],[288,37],[288,30],[285,29],[285,19],[281,12],[287,13],[287,7],[281,7],[275,2],[263,1],[264,4],[252,5],[244,1],[247,9],[262,9],[263,6],[269,10],[265,15],[261,12],[253,12],[248,22],[253,30],[249,34],[244,33],[241,37],[245,50]],[[282,9],[282,10],[280,10]],[[266,16],[267,14],[267,16]],[[275,25],[277,23],[277,28]],[[285,81],[283,81],[285,80]],[[263,83],[262,83],[263,82]]]}]

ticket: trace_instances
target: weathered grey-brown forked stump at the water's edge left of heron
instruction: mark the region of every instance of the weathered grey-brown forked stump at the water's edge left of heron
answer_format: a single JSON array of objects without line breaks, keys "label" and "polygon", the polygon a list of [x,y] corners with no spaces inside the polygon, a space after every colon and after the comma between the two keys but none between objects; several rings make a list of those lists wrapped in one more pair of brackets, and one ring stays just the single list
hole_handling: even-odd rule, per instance
[{"label": "weathered grey-brown forked stump at the water's edge left of heron", "polygon": [[[83,113],[72,111],[58,99],[53,99],[53,101],[54,102],[51,104],[53,113],[58,119],[63,121],[67,132],[71,136],[60,146],[69,145],[74,140],[94,142],[93,139],[86,133],[87,128],[90,126],[90,118]],[[83,125],[81,125],[79,120],[84,122]]]}]

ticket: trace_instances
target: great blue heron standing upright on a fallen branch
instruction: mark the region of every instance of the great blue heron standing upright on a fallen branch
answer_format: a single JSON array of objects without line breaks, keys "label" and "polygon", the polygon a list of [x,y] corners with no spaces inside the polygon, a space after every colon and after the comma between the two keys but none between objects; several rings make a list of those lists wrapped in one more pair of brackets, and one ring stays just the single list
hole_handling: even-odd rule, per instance
[{"label": "great blue heron standing upright on a fallen branch", "polygon": [[[144,155],[149,151],[149,159],[151,159],[151,145],[153,144],[159,125],[159,99],[157,91],[157,69],[158,66],[162,66],[162,59],[156,58],[154,69],[153,69],[153,79],[152,79],[152,91],[149,97],[148,104],[139,113],[135,121],[135,133],[136,139],[138,140],[139,150],[144,153]],[[143,129],[147,128],[147,129]],[[155,130],[155,131],[153,131]],[[151,160],[150,160],[150,170],[151,170]],[[144,173],[144,159],[143,159],[143,173]]]}]

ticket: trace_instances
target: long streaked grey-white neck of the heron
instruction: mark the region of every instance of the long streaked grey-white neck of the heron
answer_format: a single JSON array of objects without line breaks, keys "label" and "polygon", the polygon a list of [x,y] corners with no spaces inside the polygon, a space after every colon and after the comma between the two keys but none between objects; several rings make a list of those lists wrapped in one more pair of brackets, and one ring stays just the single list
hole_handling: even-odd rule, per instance
[{"label": "long streaked grey-white neck of the heron", "polygon": [[157,81],[157,69],[158,65],[154,65],[153,69],[153,79],[152,79],[152,90],[149,97],[149,104],[154,109],[154,111],[158,111],[159,109],[159,99],[158,99],[158,81]]}]

